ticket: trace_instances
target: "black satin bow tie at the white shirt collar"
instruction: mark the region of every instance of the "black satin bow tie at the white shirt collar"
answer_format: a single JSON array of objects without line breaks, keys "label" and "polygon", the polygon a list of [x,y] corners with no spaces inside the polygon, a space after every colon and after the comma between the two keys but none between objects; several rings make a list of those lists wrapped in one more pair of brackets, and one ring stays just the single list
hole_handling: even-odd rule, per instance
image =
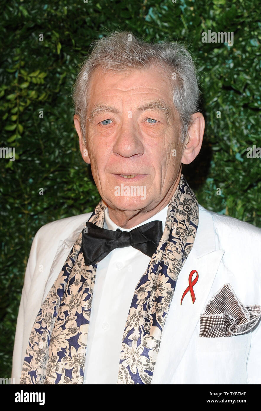
[{"label": "black satin bow tie at the white shirt collar", "polygon": [[162,238],[162,222],[152,221],[131,231],[107,230],[87,222],[81,238],[85,266],[98,263],[115,248],[129,245],[152,257]]}]

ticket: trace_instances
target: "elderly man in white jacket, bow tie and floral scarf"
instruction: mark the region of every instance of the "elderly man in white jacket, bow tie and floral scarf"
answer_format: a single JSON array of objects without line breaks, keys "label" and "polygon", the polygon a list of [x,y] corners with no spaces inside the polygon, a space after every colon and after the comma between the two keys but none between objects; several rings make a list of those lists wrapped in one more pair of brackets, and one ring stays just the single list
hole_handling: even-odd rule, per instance
[{"label": "elderly man in white jacket, bow tie and floral scarf", "polygon": [[126,32],[95,44],[74,124],[102,200],[34,238],[16,381],[261,381],[261,230],[205,210],[181,172],[203,139],[198,95],[179,44]]}]

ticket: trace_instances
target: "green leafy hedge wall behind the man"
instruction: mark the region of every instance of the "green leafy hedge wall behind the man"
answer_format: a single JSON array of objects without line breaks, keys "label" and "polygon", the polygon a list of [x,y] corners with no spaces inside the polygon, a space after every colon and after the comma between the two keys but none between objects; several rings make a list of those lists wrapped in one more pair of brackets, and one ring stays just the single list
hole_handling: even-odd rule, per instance
[{"label": "green leafy hedge wall behind the man", "polygon": [[[89,212],[99,201],[79,153],[70,95],[90,44],[108,30],[187,44],[199,70],[207,126],[201,154],[184,173],[201,205],[261,226],[261,159],[246,157],[248,147],[261,145],[258,10],[259,0],[1,1],[0,146],[16,149],[14,162],[0,159],[1,377],[11,372],[36,231]],[[202,43],[208,30],[233,32],[233,46]]]}]

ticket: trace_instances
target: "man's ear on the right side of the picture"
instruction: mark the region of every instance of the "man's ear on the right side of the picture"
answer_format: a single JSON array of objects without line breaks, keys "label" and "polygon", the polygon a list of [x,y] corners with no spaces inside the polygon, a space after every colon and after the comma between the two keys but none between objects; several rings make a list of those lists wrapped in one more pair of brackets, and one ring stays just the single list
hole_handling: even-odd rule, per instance
[{"label": "man's ear on the right side of the picture", "polygon": [[183,164],[191,163],[199,154],[201,149],[205,120],[203,114],[194,113],[191,116],[192,125],[189,127],[187,137],[185,140],[185,147],[182,155],[181,162]]}]

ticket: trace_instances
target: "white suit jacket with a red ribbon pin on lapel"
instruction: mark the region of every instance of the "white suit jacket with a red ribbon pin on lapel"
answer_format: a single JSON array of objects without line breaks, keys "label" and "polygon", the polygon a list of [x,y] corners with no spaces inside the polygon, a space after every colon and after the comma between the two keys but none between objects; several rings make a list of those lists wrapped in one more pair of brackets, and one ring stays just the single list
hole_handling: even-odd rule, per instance
[{"label": "white suit jacket with a red ribbon pin on lapel", "polygon": [[[16,325],[12,369],[16,384],[37,313],[90,215],[51,222],[35,235]],[[244,305],[261,305],[260,250],[261,229],[199,206],[199,227],[178,276],[152,384],[261,383],[261,321],[243,335],[199,337],[200,315],[224,284],[231,284]],[[180,305],[192,270],[199,273],[196,301],[192,304],[188,293]]]}]

